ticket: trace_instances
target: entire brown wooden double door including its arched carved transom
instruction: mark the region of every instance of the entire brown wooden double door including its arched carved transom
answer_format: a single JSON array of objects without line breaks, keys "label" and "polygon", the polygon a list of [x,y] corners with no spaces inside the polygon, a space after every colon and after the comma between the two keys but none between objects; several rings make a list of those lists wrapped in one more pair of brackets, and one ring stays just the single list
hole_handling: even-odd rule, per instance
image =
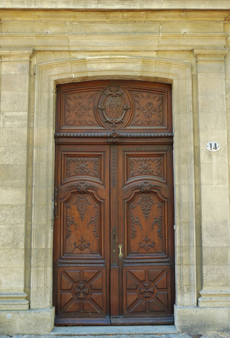
[{"label": "entire brown wooden double door including its arched carved transom", "polygon": [[55,324],[174,322],[171,88],[57,88]]}]

